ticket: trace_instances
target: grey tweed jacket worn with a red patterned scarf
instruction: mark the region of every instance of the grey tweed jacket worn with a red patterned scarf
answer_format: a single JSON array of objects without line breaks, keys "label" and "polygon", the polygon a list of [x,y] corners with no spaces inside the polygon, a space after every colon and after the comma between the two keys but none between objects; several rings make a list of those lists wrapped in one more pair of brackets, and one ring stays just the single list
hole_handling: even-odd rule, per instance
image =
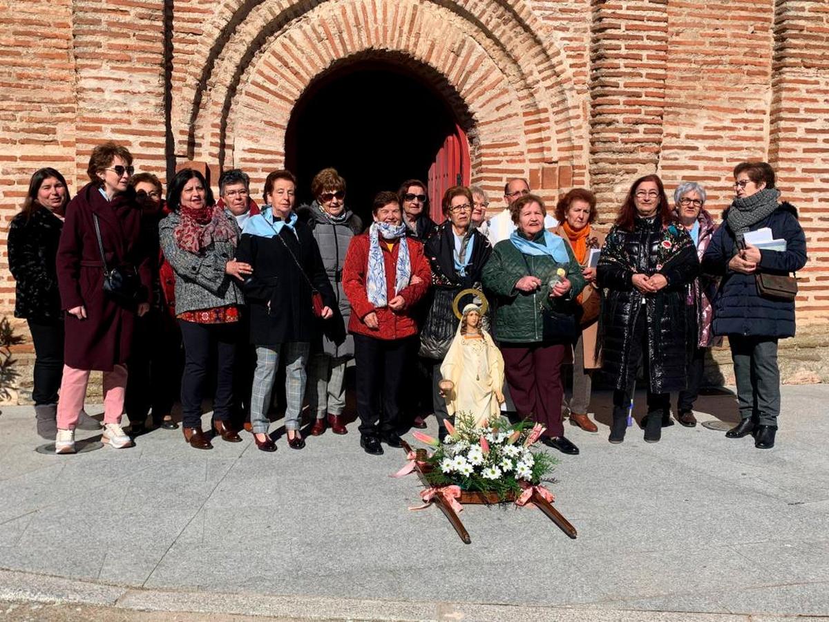
[{"label": "grey tweed jacket worn with a red patterned scarf", "polygon": [[[227,210],[225,216],[238,240],[240,231],[235,217]],[[176,313],[245,304],[236,280],[225,274],[225,264],[233,259],[235,245],[230,241],[214,242],[201,255],[182,250],[172,236],[179,221],[174,211],[158,223],[164,258],[176,273]]]}]

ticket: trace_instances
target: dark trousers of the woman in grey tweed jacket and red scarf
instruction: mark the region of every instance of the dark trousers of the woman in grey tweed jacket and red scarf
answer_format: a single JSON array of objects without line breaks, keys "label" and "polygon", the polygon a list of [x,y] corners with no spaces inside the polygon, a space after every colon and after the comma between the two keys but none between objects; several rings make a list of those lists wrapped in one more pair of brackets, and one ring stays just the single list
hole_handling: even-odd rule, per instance
[{"label": "dark trousers of the woman in grey tweed jacket and red scarf", "polygon": [[233,411],[233,367],[238,342],[238,325],[199,324],[178,320],[184,340],[182,375],[182,423],[186,428],[201,427],[201,401],[210,377],[211,361],[216,364],[216,395],[213,418],[230,421]]}]

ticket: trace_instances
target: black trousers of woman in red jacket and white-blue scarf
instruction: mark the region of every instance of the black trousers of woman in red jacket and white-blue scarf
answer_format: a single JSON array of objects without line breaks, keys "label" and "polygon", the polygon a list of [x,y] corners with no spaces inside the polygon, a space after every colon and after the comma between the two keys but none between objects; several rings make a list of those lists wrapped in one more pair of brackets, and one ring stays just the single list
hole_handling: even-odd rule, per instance
[{"label": "black trousers of woman in red jacket and white-blue scarf", "polygon": [[400,418],[400,386],[414,339],[377,339],[354,335],[357,415],[360,415],[361,435],[396,432]]}]

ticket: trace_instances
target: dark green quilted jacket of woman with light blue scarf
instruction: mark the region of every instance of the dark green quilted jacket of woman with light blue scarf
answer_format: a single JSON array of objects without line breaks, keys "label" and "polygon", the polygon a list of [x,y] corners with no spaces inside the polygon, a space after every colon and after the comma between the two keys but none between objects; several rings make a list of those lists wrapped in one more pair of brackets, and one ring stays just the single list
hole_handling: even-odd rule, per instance
[{"label": "dark green quilted jacket of woman with light blue scarf", "polygon": [[[543,231],[537,238],[541,238]],[[570,262],[561,265],[549,255],[523,255],[509,240],[500,241],[483,268],[483,287],[495,309],[493,337],[500,343],[569,343],[575,340],[574,299],[584,289],[581,266],[569,244],[565,244]],[[528,270],[529,268],[529,270]],[[555,271],[564,268],[570,279],[570,291],[550,299],[547,285]],[[541,279],[541,288],[527,294],[515,289],[521,277]],[[541,309],[545,313],[541,313]]]}]

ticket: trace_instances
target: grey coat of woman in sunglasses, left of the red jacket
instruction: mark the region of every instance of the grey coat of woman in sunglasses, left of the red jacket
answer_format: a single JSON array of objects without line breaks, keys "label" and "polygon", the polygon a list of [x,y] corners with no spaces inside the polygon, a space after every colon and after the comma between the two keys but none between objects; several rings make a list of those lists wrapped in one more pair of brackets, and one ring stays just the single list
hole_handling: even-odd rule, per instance
[{"label": "grey coat of woman in sunglasses, left of the red jacket", "polygon": [[[342,289],[342,265],[346,260],[351,238],[362,231],[362,221],[360,216],[348,209],[346,209],[346,215],[342,223],[333,223],[322,213],[316,201],[311,205],[303,205],[297,210],[297,216],[308,225],[319,245],[322,265],[325,266],[328,280],[331,281],[334,295],[337,296],[337,309],[342,315],[344,325],[348,326],[348,320],[351,318],[351,304],[348,302],[345,290]],[[312,352],[324,352],[332,357],[354,356],[354,338],[351,334],[347,334],[345,341],[339,345],[327,334],[322,333],[322,327],[318,334],[320,337],[312,344]],[[340,338],[342,337],[338,336],[337,341]]]}]

